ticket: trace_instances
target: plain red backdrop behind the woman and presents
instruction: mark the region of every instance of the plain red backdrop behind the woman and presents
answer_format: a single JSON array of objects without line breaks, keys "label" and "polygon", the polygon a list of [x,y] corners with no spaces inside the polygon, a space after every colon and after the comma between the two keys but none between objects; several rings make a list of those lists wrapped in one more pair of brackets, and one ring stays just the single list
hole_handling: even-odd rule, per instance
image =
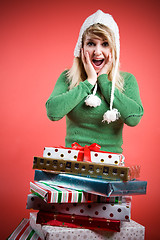
[{"label": "plain red backdrop behind the woman and presents", "polygon": [[159,236],[159,1],[1,1],[1,239],[29,217],[26,200],[33,156],[45,146],[64,145],[65,119],[47,119],[45,102],[57,77],[73,60],[84,19],[98,9],[120,28],[121,69],[140,87],[144,117],[124,129],[127,163],[141,164],[147,195],[135,196],[132,219]]}]

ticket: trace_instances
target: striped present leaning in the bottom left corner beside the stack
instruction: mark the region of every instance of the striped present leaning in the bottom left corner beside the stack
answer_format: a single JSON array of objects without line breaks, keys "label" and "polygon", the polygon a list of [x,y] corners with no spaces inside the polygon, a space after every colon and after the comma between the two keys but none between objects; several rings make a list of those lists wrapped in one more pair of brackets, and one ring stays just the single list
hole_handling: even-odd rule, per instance
[{"label": "striped present leaning in the bottom left corner beside the stack", "polygon": [[[41,233],[43,237],[43,233]],[[41,240],[37,233],[31,228],[30,220],[23,219],[14,232],[7,238],[8,240]]]}]

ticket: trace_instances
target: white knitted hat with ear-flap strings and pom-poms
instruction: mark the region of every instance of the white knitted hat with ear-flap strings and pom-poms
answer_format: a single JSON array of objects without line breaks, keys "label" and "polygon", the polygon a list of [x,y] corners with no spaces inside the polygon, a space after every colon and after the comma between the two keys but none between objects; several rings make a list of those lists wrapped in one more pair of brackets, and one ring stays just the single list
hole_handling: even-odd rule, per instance
[{"label": "white knitted hat with ear-flap strings and pom-poms", "polygon": [[[113,100],[114,100],[114,90],[115,90],[115,82],[116,82],[116,74],[118,71],[119,66],[119,54],[120,54],[120,41],[119,41],[119,29],[114,21],[113,17],[110,14],[104,13],[101,10],[98,10],[94,14],[90,15],[83,23],[78,41],[74,50],[74,56],[80,57],[80,51],[82,48],[82,36],[84,31],[93,24],[100,23],[108,27],[114,34],[115,37],[115,44],[116,44],[116,52],[117,52],[117,59],[115,63],[115,70],[113,73],[112,79],[112,89],[111,89],[111,98],[110,98],[110,110],[108,110],[103,115],[103,121],[107,121],[108,123],[116,121],[120,117],[120,113],[117,109],[113,108]],[[93,94],[89,95],[86,99],[86,104],[91,107],[97,107],[101,104],[101,100],[95,96],[97,90],[97,84],[95,85]]]}]

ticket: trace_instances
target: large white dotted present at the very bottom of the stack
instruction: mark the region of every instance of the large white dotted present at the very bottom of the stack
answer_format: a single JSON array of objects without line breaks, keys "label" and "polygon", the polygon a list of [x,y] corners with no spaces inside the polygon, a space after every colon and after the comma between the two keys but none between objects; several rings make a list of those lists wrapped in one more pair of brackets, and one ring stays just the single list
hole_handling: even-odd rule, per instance
[{"label": "large white dotted present at the very bottom of the stack", "polygon": [[39,235],[44,234],[42,240],[144,240],[145,236],[145,227],[133,220],[122,222],[120,232],[41,226],[36,224],[36,213],[30,213],[30,224]]}]

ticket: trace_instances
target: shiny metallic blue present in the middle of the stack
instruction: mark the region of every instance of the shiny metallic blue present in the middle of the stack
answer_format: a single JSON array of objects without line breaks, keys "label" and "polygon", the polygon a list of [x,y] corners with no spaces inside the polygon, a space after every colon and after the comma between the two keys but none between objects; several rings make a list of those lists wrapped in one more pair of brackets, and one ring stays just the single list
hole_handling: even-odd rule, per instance
[{"label": "shiny metallic blue present in the middle of the stack", "polygon": [[35,181],[47,181],[57,186],[83,190],[101,196],[125,196],[146,194],[146,181],[109,181],[106,179],[88,178],[71,174],[55,174],[35,170]]}]

